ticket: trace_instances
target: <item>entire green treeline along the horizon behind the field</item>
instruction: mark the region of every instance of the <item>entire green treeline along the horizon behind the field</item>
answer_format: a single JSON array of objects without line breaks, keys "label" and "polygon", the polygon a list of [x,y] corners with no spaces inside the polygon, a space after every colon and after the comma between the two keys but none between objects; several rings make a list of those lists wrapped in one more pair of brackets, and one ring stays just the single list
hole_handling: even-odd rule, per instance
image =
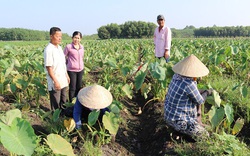
[{"label": "entire green treeline along the horizon behind the field", "polygon": [[[83,39],[115,39],[115,38],[153,38],[155,23],[143,21],[128,21],[118,25],[115,23],[101,26],[98,34],[83,36]],[[231,27],[200,27],[186,26],[184,29],[171,28],[173,38],[192,37],[250,37],[250,26]],[[40,41],[49,40],[48,31],[30,30],[23,28],[0,28],[0,41]],[[71,37],[64,33],[63,40]]]}]

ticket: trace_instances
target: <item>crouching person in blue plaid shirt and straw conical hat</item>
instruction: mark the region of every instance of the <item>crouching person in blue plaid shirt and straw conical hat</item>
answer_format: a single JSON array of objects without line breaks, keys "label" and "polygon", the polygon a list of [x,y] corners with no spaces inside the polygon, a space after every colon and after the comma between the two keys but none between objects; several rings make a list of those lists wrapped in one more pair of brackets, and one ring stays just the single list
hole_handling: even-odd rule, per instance
[{"label": "crouching person in blue plaid shirt and straw conical hat", "polygon": [[174,67],[175,74],[165,99],[164,118],[175,130],[192,137],[208,136],[201,122],[201,104],[212,90],[202,94],[197,88],[197,77],[206,76],[208,68],[194,55],[186,57]]}]

